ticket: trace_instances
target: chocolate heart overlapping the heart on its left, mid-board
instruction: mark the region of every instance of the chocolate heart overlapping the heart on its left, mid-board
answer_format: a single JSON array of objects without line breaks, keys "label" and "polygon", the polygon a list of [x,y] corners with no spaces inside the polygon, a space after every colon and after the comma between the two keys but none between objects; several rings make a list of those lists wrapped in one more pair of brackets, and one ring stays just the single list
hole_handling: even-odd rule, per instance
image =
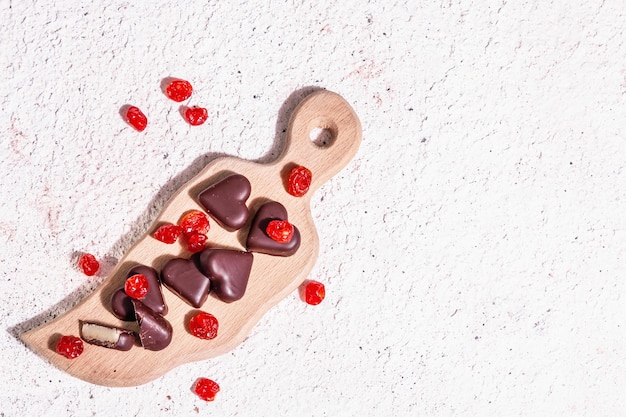
[{"label": "chocolate heart overlapping the heart on its left, mid-board", "polygon": [[211,289],[217,297],[232,303],[246,292],[252,269],[253,255],[232,249],[205,249],[198,255],[202,272],[211,280]]}]

